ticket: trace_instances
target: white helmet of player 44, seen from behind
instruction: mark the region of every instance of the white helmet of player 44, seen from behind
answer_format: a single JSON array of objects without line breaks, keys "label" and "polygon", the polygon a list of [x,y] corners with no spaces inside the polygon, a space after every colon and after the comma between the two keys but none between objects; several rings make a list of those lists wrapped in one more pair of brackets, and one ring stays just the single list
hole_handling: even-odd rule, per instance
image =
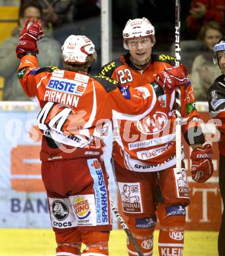
[{"label": "white helmet of player 44, seen from behind", "polygon": [[63,60],[67,64],[85,64],[88,60],[87,57],[92,54],[96,58],[95,45],[85,35],[69,35],[61,50],[63,51]]}]

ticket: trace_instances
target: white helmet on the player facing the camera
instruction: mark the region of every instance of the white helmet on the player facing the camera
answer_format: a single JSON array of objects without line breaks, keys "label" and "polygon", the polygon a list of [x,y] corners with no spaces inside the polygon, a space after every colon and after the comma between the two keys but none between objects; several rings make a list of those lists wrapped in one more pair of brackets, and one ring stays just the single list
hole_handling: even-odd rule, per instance
[{"label": "white helmet on the player facing the camera", "polygon": [[126,26],[123,30],[124,37],[124,48],[128,49],[128,44],[126,43],[126,39],[137,38],[137,37],[151,37],[152,43],[156,43],[156,37],[154,26],[150,23],[150,21],[143,18],[135,18],[134,20],[128,20]]}]

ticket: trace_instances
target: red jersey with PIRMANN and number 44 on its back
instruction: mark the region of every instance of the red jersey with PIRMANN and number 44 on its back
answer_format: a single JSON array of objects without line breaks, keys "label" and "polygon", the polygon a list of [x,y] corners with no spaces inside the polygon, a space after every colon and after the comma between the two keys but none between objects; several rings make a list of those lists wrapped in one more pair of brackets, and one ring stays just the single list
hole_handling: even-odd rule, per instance
[{"label": "red jersey with PIRMANN and number 44 on its back", "polygon": [[109,77],[38,67],[35,56],[24,56],[18,78],[26,95],[41,106],[39,129],[65,145],[101,149],[99,140],[107,135],[112,116],[146,116],[159,105],[150,84],[124,88]]}]

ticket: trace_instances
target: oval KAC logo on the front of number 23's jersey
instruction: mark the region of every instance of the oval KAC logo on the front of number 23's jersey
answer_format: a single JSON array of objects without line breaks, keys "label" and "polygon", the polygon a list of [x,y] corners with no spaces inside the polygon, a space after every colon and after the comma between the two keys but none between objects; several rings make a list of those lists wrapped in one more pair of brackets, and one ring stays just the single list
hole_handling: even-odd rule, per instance
[{"label": "oval KAC logo on the front of number 23's jersey", "polygon": [[153,135],[160,133],[167,125],[167,115],[163,112],[156,112],[153,116],[147,116],[141,121],[137,121],[137,129],[141,133]]}]

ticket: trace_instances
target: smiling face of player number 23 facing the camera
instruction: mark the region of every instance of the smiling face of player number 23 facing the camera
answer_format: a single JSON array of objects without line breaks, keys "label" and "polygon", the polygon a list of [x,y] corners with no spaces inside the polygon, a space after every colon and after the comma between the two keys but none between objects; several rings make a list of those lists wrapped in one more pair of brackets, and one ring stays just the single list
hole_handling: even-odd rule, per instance
[{"label": "smiling face of player number 23 facing the camera", "polygon": [[127,43],[131,54],[131,62],[136,66],[147,64],[150,60],[153,46],[150,37],[129,39]]}]

